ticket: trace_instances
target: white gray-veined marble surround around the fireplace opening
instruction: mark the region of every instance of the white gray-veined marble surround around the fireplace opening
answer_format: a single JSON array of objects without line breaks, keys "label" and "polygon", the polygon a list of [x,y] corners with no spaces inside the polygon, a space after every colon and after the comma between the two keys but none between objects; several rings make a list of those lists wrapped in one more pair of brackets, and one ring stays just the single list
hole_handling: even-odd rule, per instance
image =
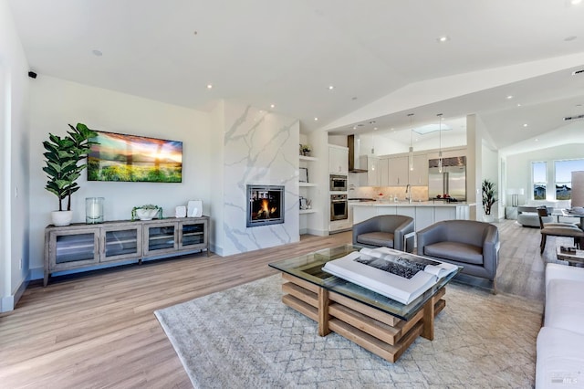
[{"label": "white gray-veined marble surround around the fireplace opening", "polygon": [[[228,256],[297,242],[299,122],[234,103],[224,104],[223,119],[223,217],[215,219],[214,251]],[[283,224],[245,226],[247,184],[285,186]]]}]

